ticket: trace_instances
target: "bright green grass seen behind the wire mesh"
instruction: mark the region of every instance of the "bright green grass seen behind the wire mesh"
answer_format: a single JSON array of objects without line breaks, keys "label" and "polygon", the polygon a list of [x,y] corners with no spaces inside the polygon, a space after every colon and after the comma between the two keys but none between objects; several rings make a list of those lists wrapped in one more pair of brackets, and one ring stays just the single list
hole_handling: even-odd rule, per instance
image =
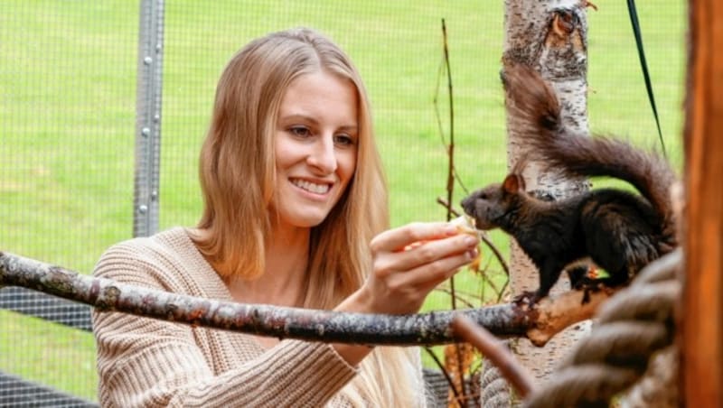
[{"label": "bright green grass seen behind the wire mesh", "polygon": [[[681,165],[685,2],[641,3],[639,15],[671,160]],[[0,249],[82,273],[132,233],[138,2],[10,1],[0,14]],[[448,137],[441,19],[455,95],[455,164],[468,189],[505,172],[498,79],[502,2],[166,2],[160,227],[200,214],[198,148],[216,80],[249,39],[316,27],[355,60],[373,104],[388,171],[392,224],[445,219]],[[627,11],[588,14],[589,119],[596,132],[655,146]],[[464,192],[455,186],[455,202]],[[494,235],[507,251],[506,239]],[[492,259],[488,250],[485,262]],[[502,284],[499,266],[490,264]],[[489,296],[463,272],[458,290]],[[437,292],[427,309],[449,308]],[[95,398],[92,337],[0,311],[0,370]],[[22,344],[22,348],[18,345]],[[54,351],[52,351],[54,350]],[[51,352],[52,351],[52,352]]]}]

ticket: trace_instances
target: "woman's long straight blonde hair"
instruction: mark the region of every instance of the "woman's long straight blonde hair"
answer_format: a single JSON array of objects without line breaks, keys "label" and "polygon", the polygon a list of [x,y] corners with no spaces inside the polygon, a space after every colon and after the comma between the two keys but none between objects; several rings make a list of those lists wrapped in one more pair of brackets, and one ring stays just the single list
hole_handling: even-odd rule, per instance
[{"label": "woman's long straight blonde hair", "polygon": [[[343,197],[311,231],[304,307],[332,309],[371,273],[371,238],[389,227],[387,187],[361,76],[333,42],[313,30],[274,32],[250,42],[221,74],[202,145],[204,209],[194,237],[223,279],[263,274],[274,193],[273,135],[281,99],[300,75],[348,79],[359,98],[357,166]],[[343,389],[354,405],[424,404],[417,348],[375,348]]]}]

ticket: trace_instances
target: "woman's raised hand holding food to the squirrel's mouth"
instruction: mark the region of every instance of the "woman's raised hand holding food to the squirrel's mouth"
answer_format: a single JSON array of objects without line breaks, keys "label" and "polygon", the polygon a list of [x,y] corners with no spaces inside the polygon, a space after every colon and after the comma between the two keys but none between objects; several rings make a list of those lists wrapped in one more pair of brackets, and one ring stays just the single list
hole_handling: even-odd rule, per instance
[{"label": "woman's raised hand holding food to the squirrel's mouth", "polygon": [[341,310],[416,313],[427,294],[477,257],[479,239],[450,223],[411,223],[371,240],[373,272]]}]

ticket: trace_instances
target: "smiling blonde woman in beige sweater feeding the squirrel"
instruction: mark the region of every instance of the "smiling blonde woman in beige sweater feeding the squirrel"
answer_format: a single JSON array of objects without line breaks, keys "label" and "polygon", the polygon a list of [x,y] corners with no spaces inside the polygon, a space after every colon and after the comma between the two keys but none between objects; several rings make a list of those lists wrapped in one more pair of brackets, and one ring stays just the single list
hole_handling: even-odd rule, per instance
[{"label": "smiling blonde woman in beige sweater feeding the squirrel", "polygon": [[[225,301],[414,313],[476,256],[476,238],[447,223],[385,231],[362,80],[311,30],[269,34],[230,60],[200,176],[197,227],[113,246],[95,274]],[[103,406],[425,403],[415,348],[278,341],[121,313],[94,314],[94,332]]]}]

